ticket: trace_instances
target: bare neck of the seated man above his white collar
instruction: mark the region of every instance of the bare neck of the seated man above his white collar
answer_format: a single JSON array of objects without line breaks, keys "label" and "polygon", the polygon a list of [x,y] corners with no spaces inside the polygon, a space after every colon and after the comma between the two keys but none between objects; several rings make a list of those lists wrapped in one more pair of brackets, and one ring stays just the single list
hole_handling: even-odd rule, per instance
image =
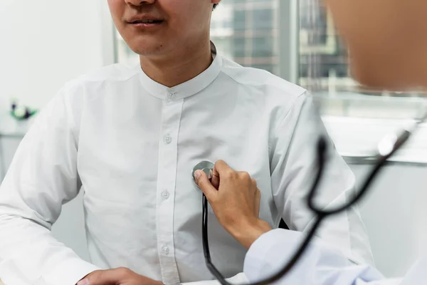
[{"label": "bare neck of the seated man above his white collar", "polygon": [[182,48],[162,58],[140,56],[144,73],[167,87],[174,87],[198,76],[212,63],[211,43],[204,41],[193,48]]}]

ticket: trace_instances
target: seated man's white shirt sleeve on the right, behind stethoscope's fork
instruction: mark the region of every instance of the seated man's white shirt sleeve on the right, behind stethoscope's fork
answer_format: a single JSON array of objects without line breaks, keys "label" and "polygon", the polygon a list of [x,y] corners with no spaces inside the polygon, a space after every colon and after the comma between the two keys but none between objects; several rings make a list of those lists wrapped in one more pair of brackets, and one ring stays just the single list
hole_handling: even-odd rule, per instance
[{"label": "seated man's white shirt sleeve on the right, behind stethoscope's fork", "polygon": [[[354,195],[354,175],[328,137],[311,95],[305,93],[295,100],[270,143],[273,199],[288,227],[298,232],[305,232],[313,222],[307,195],[317,170],[316,146],[321,136],[327,139],[327,164],[317,187],[316,204],[327,209]],[[357,205],[327,218],[318,236],[341,249],[354,263],[374,264]]]}]

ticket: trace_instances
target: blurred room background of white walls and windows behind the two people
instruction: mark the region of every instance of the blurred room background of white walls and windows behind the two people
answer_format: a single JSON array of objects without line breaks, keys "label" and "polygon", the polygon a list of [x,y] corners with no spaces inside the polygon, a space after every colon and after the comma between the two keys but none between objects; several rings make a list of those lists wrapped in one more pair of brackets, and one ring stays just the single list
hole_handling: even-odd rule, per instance
[{"label": "blurred room background of white walls and windows behind the two people", "polygon": [[[339,152],[357,181],[387,133],[426,110],[426,93],[362,88],[318,0],[223,0],[211,38],[223,56],[297,83],[315,96]],[[12,102],[40,109],[66,81],[112,63],[137,63],[115,31],[106,1],[0,2],[0,180],[31,120],[16,120]],[[427,244],[427,127],[423,125],[361,204],[376,265],[403,275]],[[0,193],[1,195],[1,193]],[[56,237],[87,259],[81,197],[64,207]]]}]

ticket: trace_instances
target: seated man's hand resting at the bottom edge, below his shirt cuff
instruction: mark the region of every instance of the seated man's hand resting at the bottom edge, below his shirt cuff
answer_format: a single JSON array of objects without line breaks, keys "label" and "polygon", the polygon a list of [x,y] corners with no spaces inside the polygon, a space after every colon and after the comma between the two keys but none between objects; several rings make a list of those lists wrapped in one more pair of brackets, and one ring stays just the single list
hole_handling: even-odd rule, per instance
[{"label": "seated man's hand resting at the bottom edge, below his shirt cuff", "polygon": [[136,274],[125,267],[120,267],[93,271],[80,280],[77,285],[163,285],[163,283]]}]

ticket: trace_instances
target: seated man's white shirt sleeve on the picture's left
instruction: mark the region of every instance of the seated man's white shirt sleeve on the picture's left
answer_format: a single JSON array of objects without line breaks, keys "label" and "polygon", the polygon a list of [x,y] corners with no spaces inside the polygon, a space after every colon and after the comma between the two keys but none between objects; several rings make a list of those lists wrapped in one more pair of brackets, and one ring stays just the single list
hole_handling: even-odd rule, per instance
[{"label": "seated man's white shirt sleeve on the picture's left", "polygon": [[78,195],[77,142],[60,92],[37,116],[0,187],[0,279],[73,285],[98,269],[58,242],[51,227]]}]

